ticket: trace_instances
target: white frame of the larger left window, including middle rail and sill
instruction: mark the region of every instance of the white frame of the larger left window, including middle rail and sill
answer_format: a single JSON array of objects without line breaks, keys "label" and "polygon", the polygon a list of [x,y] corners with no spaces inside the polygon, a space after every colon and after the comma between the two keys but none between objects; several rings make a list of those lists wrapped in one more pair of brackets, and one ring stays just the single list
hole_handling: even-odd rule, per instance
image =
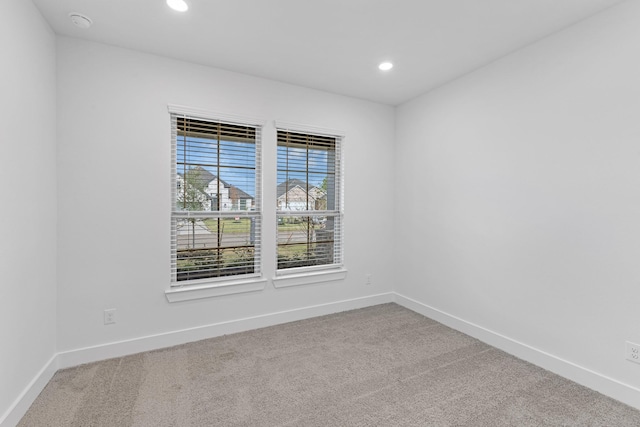
[{"label": "white frame of the larger left window, including middle rail and sill", "polygon": [[[262,271],[262,133],[265,122],[263,120],[245,116],[221,114],[204,110],[197,110],[182,106],[168,106],[171,123],[171,256],[169,289],[165,292],[170,302],[183,301],[209,296],[228,295],[233,293],[262,290],[266,280]],[[178,200],[178,118],[188,118],[211,123],[240,125],[255,128],[255,196],[251,211],[240,211],[232,206],[232,210],[225,211],[184,211],[177,208]],[[219,147],[218,147],[219,148]],[[221,177],[217,177],[221,179]],[[183,184],[185,185],[185,184]],[[177,280],[177,221],[181,218],[207,217],[214,219],[245,217],[255,219],[253,272],[247,274],[225,275],[200,279]],[[189,292],[185,292],[189,291]],[[193,291],[193,292],[192,292]]]}]

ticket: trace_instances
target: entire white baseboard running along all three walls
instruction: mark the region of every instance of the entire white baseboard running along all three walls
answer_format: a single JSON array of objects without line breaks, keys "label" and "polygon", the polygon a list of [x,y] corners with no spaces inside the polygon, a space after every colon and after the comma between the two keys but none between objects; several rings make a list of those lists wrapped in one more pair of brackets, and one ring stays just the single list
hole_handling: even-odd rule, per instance
[{"label": "entire white baseboard running along all three walls", "polygon": [[411,298],[389,292],[54,354],[51,360],[49,360],[25,390],[16,398],[13,405],[0,417],[0,427],[14,427],[58,369],[389,302],[395,302],[409,310],[466,333],[509,354],[596,390],[629,406],[640,409],[640,389],[638,388],[591,371],[459,317],[452,316]]}]

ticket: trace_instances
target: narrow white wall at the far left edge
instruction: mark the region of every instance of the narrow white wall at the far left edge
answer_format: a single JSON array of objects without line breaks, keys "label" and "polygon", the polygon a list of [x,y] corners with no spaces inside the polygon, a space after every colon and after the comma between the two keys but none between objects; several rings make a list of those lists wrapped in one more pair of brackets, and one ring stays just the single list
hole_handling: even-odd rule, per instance
[{"label": "narrow white wall at the far left edge", "polygon": [[0,2],[0,422],[56,343],[55,36]]}]

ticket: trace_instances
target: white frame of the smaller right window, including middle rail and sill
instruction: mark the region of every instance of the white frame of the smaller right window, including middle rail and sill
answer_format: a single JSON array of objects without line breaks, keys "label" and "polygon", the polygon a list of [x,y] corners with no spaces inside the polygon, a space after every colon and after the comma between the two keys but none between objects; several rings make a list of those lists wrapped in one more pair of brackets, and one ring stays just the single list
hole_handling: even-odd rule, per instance
[{"label": "white frame of the smaller right window, including middle rail and sill", "polygon": [[[305,134],[309,136],[330,137],[335,139],[335,208],[325,210],[282,210],[276,206],[276,266],[273,283],[275,287],[295,286],[307,283],[318,283],[325,281],[341,280],[346,277],[347,270],[344,268],[344,141],[343,131],[322,128],[317,126],[302,125],[284,121],[274,121],[276,135],[278,132],[291,132]],[[278,146],[276,136],[276,146]],[[278,162],[276,161],[278,170]],[[276,180],[276,185],[278,182]],[[332,215],[337,219],[333,241],[334,262],[330,264],[311,265],[302,267],[278,268],[278,221],[282,216],[323,216]]]}]

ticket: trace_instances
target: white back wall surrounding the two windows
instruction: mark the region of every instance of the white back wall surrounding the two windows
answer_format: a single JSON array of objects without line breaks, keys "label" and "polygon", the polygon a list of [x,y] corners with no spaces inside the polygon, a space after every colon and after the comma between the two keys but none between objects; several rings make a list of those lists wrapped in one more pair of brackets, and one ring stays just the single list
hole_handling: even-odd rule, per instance
[{"label": "white back wall surrounding the two windows", "polygon": [[[393,191],[392,107],[77,39],[59,38],[57,48],[60,351],[391,290],[393,211],[383,201]],[[275,269],[273,120],[343,130],[346,280],[168,303],[168,104],[267,120],[267,278]],[[117,323],[104,326],[108,308]]]}]

